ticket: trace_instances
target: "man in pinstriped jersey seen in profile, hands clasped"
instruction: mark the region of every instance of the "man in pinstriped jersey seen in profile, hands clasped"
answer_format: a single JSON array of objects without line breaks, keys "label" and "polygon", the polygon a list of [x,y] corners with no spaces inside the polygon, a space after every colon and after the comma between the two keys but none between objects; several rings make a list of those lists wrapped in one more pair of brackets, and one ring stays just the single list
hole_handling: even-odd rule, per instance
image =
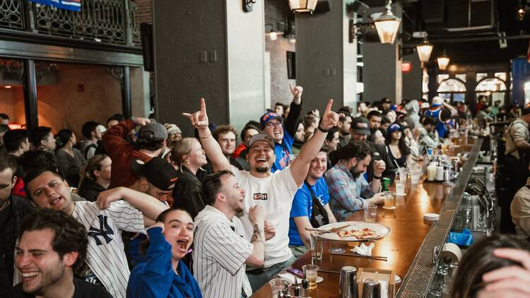
[{"label": "man in pinstriped jersey seen in profile, hands clasped", "polygon": [[263,266],[265,241],[274,236],[266,210],[260,205],[249,209],[254,226],[249,242],[241,236],[245,229],[236,216],[243,211],[245,190],[234,174],[223,170],[206,176],[203,190],[207,205],[195,217],[193,251],[193,271],[203,297],[250,297],[246,265]]}]

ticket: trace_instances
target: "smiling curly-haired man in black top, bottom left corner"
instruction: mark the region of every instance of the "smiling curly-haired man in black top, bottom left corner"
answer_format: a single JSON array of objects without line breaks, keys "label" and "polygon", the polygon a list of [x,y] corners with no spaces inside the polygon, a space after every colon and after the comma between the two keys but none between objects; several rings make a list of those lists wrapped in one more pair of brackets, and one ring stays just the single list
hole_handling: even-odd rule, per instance
[{"label": "smiling curly-haired man in black top, bottom left corner", "polygon": [[73,277],[85,266],[88,246],[85,227],[73,217],[50,209],[28,215],[18,240],[15,263],[22,282],[10,297],[112,297]]}]

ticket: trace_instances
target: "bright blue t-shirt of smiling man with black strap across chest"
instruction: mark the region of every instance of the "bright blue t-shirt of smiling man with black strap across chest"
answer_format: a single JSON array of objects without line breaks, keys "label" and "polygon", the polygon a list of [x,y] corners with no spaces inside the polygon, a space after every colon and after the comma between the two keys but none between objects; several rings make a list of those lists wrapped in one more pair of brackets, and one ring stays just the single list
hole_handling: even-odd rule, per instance
[{"label": "bright blue t-shirt of smiling man with black strap across chest", "polygon": [[[324,206],[329,203],[329,192],[326,180],[321,177],[317,180],[317,183],[311,186],[311,189],[315,196],[319,199],[320,203]],[[289,215],[289,245],[302,246],[304,243],[300,239],[300,234],[295,225],[293,217],[307,216],[311,217],[313,212],[313,199],[307,183],[304,183],[301,189],[298,189],[295,193],[295,199],[293,201],[293,207],[290,209]]]}]

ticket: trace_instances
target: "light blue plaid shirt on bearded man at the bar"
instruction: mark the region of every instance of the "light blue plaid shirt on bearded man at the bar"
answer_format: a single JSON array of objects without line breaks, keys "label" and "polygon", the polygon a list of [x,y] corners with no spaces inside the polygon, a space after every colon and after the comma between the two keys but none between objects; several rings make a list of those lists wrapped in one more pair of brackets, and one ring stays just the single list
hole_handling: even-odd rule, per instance
[{"label": "light blue plaid shirt on bearded man at the bar", "polygon": [[338,162],[324,177],[329,189],[329,207],[338,222],[346,220],[353,212],[362,210],[364,198],[373,196],[372,184],[361,174],[353,178],[346,167]]}]

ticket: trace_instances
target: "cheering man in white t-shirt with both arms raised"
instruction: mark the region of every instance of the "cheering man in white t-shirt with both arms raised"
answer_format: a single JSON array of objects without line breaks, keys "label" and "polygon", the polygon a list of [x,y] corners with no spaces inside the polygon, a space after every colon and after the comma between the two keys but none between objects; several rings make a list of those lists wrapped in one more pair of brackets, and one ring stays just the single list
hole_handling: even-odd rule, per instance
[{"label": "cheering man in white t-shirt with both arms raised", "polygon": [[245,227],[245,238],[251,239],[254,225],[249,220],[249,209],[254,205],[263,206],[269,213],[268,221],[276,230],[276,236],[265,242],[265,261],[259,268],[249,268],[247,275],[256,291],[271,280],[283,268],[294,261],[293,253],[289,249],[289,213],[296,191],[307,176],[309,166],[317,155],[327,131],[336,126],[338,114],[331,112],[333,100],[329,100],[322,122],[300,150],[293,163],[280,171],[271,173],[271,167],[276,160],[274,155],[274,141],[271,136],[258,133],[249,141],[247,161],[250,171],[241,171],[230,166],[230,162],[223,155],[217,141],[211,136],[208,129],[208,115],[206,103],[201,99],[201,110],[194,114],[183,113],[199,131],[201,144],[206,155],[212,162],[213,170],[231,170],[235,174],[237,183],[245,189],[243,201],[243,215],[240,220]]}]

